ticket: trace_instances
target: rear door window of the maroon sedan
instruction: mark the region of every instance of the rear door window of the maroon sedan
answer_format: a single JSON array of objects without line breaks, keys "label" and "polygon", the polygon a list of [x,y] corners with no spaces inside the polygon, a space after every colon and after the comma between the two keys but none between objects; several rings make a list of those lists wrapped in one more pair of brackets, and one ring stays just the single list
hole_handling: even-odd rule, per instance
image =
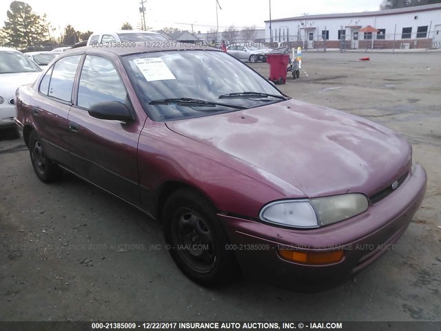
[{"label": "rear door window of the maroon sedan", "polygon": [[70,102],[76,68],[80,59],[81,55],[74,55],[55,63],[49,83],[49,97]]}]

